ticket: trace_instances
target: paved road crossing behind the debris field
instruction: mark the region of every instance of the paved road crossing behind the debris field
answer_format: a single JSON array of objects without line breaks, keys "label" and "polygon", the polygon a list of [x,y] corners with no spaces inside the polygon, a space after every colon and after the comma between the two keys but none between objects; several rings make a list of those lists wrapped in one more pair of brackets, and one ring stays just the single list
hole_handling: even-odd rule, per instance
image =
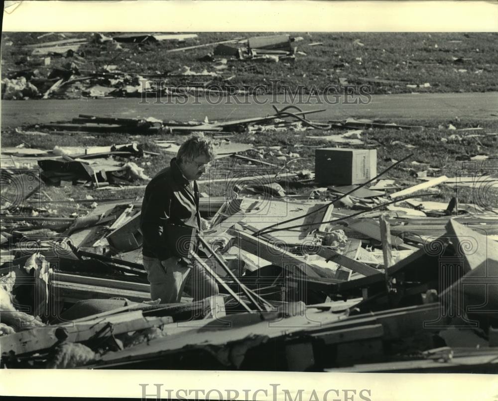
[{"label": "paved road crossing behind the debris field", "polygon": [[[213,102],[219,99],[212,98]],[[303,98],[307,100],[306,96]],[[313,101],[313,99],[311,99]],[[366,98],[362,98],[366,100]],[[166,102],[166,99],[163,100]],[[265,116],[273,113],[271,104],[279,102],[277,107],[291,104],[283,96],[273,99],[271,96],[259,96],[256,100],[239,98],[231,102],[223,101],[210,104],[200,99],[197,104],[190,100],[187,104],[158,104],[155,98],[147,99],[77,99],[77,100],[25,100],[1,102],[1,127],[17,127],[24,124],[40,124],[55,121],[69,121],[78,114],[94,116],[112,116],[121,118],[155,117],[161,120],[204,120],[210,121],[239,120],[249,117]],[[328,103],[327,103],[328,101]],[[347,117],[364,117],[381,120],[407,119],[436,120],[460,119],[491,120],[498,115],[498,93],[448,93],[448,94],[402,94],[374,95],[369,104],[351,104],[341,98],[337,104],[329,97],[321,104],[296,104],[304,110],[327,109],[324,113],[312,116],[315,121],[340,120]],[[257,102],[257,103],[256,103]],[[311,118],[311,117],[310,117]]]}]

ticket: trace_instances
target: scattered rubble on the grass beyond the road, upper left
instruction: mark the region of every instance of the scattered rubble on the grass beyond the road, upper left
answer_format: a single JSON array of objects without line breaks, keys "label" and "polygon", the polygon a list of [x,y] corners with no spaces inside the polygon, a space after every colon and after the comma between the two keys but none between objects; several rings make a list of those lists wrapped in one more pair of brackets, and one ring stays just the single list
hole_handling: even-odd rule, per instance
[{"label": "scattered rubble on the grass beyond the road, upper left", "polygon": [[[165,52],[187,51],[193,48],[217,44],[214,53],[208,54],[206,61],[213,61],[212,69],[195,71],[190,66],[183,66],[177,71],[154,74],[138,74],[120,71],[116,65],[104,65],[95,70],[85,69],[85,52],[82,48],[90,42],[112,46],[114,50],[124,49],[126,43],[138,45],[149,44],[163,40],[185,41],[196,38],[197,34],[150,34],[127,33],[108,37],[102,33],[94,34],[93,39],[69,38],[39,44],[29,44],[22,47],[29,55],[18,59],[18,64],[26,68],[11,70],[2,80],[2,99],[15,100],[27,98],[65,98],[65,97],[140,97],[144,94],[156,96],[188,96],[192,91],[218,92],[219,86],[209,88],[199,87],[199,79],[205,77],[220,78],[226,83],[234,77],[227,65],[228,59],[237,56],[241,60],[254,62],[291,62],[296,57],[297,47],[293,45],[295,38],[288,35],[256,36],[241,40],[225,40],[218,43],[187,46],[165,50]],[[220,57],[221,56],[221,57]],[[48,69],[51,58],[71,60]],[[33,68],[39,67],[39,68]],[[168,77],[195,76],[196,86],[164,85]],[[232,93],[232,92],[231,92]],[[239,91],[244,93],[244,91]]]}]

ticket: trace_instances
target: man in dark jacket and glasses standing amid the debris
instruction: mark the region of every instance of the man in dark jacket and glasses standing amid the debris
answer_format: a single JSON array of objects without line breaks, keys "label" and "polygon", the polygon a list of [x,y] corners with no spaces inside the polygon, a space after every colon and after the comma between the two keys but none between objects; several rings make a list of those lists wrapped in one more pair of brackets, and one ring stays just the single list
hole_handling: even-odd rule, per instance
[{"label": "man in dark jacket and glasses standing amid the debris", "polygon": [[214,278],[188,257],[188,249],[196,243],[194,230],[202,233],[206,225],[199,214],[196,179],[214,157],[213,145],[207,139],[191,137],[180,146],[170,166],[159,171],[145,188],[140,231],[152,300],[180,302],[190,271],[194,301],[218,295]]}]

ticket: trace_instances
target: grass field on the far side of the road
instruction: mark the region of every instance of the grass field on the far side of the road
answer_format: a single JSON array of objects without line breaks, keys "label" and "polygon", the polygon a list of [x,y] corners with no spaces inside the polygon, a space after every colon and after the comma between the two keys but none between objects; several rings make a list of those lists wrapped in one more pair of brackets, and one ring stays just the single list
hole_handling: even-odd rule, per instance
[{"label": "grass field on the far side of the road", "polygon": [[[51,58],[48,67],[35,67],[40,57],[31,56],[24,44],[58,40],[57,35],[37,39],[41,32],[2,33],[2,78],[21,69],[38,69],[46,77],[55,66],[62,66],[72,57]],[[214,46],[188,51],[166,53],[164,50],[211,43],[232,38],[264,35],[250,32],[201,32],[198,38],[183,43],[161,41],[151,44],[122,43],[116,50],[111,44],[89,42],[80,48],[84,59],[78,59],[84,76],[105,65],[134,74],[160,74],[166,85],[192,84],[196,77],[175,76],[182,66],[192,71],[214,71],[213,63],[199,59],[213,51]],[[266,33],[271,34],[271,33]],[[321,92],[329,85],[339,85],[343,79],[351,85],[368,84],[374,94],[410,92],[483,92],[498,90],[497,33],[306,33],[289,32],[291,37],[302,37],[294,42],[298,52],[294,62],[261,63],[229,60],[228,69],[221,77],[209,78],[213,85],[255,87],[263,85],[267,93],[274,89],[272,80],[291,89],[302,85],[305,93]],[[113,32],[106,33],[112,36]],[[67,38],[92,38],[92,33],[65,33]],[[11,45],[6,43],[12,42]],[[321,42],[316,46],[310,43]],[[233,77],[230,81],[226,78]],[[341,79],[341,81],[340,81]],[[207,78],[201,77],[205,81]],[[375,81],[377,80],[377,81]],[[382,81],[378,81],[382,80]],[[424,84],[426,84],[424,86]],[[427,86],[428,84],[428,86]],[[420,87],[407,87],[419,85]],[[275,89],[282,91],[281,88]],[[78,85],[76,85],[76,88]],[[67,92],[62,96],[80,96]]]}]

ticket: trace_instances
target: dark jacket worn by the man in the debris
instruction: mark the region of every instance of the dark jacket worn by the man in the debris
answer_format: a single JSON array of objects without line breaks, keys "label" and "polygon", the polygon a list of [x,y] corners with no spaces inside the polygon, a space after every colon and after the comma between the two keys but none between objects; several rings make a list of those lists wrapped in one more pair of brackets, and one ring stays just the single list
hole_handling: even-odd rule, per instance
[{"label": "dark jacket worn by the man in the debris", "polygon": [[200,219],[197,182],[194,181],[192,188],[173,158],[170,166],[159,171],[145,188],[140,215],[142,254],[160,261],[181,256],[167,245],[175,243],[175,237],[181,235],[174,226],[200,230]]}]

